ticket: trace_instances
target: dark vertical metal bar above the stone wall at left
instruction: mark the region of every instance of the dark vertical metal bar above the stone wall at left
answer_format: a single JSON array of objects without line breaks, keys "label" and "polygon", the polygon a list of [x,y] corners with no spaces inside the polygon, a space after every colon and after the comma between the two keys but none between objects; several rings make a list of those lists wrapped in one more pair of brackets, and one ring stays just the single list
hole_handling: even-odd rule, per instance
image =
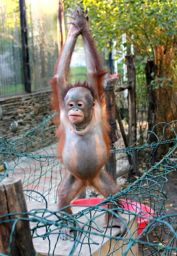
[{"label": "dark vertical metal bar above the stone wall at left", "polygon": [[25,81],[25,91],[31,92],[31,75],[30,75],[29,52],[28,52],[25,0],[19,0],[19,7],[20,7],[20,25],[21,25],[21,41],[22,41],[22,57],[23,57],[23,73],[24,73],[24,81]]}]

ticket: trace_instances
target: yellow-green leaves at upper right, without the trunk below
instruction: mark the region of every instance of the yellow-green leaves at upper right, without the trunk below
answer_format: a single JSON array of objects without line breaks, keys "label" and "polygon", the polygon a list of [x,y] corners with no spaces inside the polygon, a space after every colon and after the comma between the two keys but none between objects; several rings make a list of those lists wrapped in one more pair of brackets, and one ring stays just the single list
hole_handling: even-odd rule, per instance
[{"label": "yellow-green leaves at upper right, without the trunk below", "polygon": [[[73,6],[74,1],[67,0],[65,4]],[[175,43],[175,0],[82,0],[80,4],[84,9],[88,8],[90,26],[101,46],[126,33],[128,42],[133,42],[137,53],[152,59],[156,44],[168,46],[170,41]]]}]

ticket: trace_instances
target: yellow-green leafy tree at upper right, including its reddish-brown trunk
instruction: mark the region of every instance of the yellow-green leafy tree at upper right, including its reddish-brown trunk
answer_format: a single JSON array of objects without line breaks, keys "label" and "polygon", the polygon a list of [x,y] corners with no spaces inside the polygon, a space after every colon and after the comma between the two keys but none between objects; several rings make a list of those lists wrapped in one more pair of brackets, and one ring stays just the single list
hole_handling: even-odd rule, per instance
[{"label": "yellow-green leafy tree at upper right, including its reddish-brown trunk", "polygon": [[[78,2],[78,1],[77,1]],[[74,7],[69,0],[66,5]],[[110,39],[120,48],[121,35],[126,33],[127,54],[133,43],[136,66],[143,69],[154,61],[152,87],[157,94],[157,122],[176,119],[177,2],[175,0],[81,0],[89,11],[90,27],[100,49]],[[163,110],[166,109],[166,112]]]}]

